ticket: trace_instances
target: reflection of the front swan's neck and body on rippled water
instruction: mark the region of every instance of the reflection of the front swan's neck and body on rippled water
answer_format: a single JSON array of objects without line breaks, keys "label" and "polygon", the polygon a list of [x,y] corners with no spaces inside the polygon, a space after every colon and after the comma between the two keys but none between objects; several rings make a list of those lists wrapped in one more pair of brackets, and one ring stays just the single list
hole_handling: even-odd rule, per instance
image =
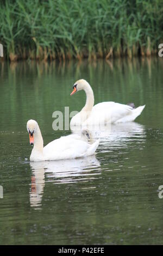
[{"label": "reflection of the front swan's neck and body on rippled water", "polygon": [[100,166],[95,155],[79,159],[30,162],[32,168],[30,206],[36,209],[41,206],[46,181],[54,182],[54,184],[87,182],[90,179],[96,179],[96,176],[101,174]]}]

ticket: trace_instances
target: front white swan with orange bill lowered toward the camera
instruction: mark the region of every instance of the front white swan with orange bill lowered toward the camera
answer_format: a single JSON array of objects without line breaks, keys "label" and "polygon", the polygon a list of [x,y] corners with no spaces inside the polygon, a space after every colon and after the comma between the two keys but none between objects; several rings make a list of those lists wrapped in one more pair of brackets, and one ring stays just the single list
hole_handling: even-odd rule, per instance
[{"label": "front white swan with orange bill lowered toward the camera", "polygon": [[41,131],[35,120],[28,120],[27,131],[30,144],[34,144],[30,161],[75,159],[77,157],[90,156],[95,153],[99,144],[99,140],[89,144],[79,139],[64,136],[55,139],[55,141],[50,142],[43,148]]}]

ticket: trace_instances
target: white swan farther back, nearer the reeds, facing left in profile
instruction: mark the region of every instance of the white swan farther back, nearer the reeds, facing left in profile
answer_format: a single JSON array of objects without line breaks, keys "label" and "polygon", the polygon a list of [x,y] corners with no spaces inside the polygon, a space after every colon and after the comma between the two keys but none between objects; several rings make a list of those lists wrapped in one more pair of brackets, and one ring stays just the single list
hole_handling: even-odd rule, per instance
[{"label": "white swan farther back, nearer the reeds, facing left in profile", "polygon": [[94,95],[90,84],[84,80],[74,83],[73,91],[70,95],[84,90],[86,93],[86,103],[82,110],[71,119],[70,126],[74,125],[104,125],[107,123],[125,123],[134,121],[138,117],[144,106],[135,108],[134,104],[124,105],[113,101],[101,102],[94,105]]}]

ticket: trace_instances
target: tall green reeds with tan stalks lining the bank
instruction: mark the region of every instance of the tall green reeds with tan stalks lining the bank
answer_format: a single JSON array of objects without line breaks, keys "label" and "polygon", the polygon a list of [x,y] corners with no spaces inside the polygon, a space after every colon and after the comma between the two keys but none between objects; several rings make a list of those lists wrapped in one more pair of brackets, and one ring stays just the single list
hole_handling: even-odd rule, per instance
[{"label": "tall green reeds with tan stalks lining the bank", "polygon": [[150,56],[163,40],[162,0],[7,0],[0,8],[10,60]]}]

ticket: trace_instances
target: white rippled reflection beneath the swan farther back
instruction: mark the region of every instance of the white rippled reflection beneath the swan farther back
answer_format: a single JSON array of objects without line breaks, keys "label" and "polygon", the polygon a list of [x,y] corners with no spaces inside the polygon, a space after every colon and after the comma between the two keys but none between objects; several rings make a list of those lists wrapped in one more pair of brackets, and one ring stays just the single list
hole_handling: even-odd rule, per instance
[{"label": "white rippled reflection beneath the swan farther back", "polygon": [[[79,126],[71,126],[73,133],[78,133]],[[100,138],[98,151],[100,153],[110,151],[111,149],[121,149],[130,147],[140,147],[145,143],[146,130],[145,126],[135,123],[107,124],[106,126],[84,126],[89,132],[91,139]]]}]

